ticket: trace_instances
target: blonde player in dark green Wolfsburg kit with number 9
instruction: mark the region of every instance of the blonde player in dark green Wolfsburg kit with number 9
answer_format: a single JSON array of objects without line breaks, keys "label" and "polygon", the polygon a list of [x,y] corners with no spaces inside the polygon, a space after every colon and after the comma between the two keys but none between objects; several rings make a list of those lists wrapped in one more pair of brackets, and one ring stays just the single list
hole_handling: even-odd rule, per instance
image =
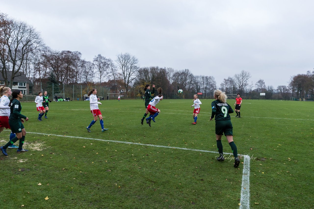
[{"label": "blonde player in dark green Wolfsburg kit with number 9", "polygon": [[228,140],[228,143],[231,147],[233,156],[235,157],[234,167],[237,168],[240,165],[240,159],[238,158],[238,151],[236,144],[233,142],[233,127],[231,123],[231,118],[229,113],[233,113],[232,108],[226,102],[227,96],[224,92],[216,90],[214,92],[215,101],[212,102],[212,115],[210,120],[212,121],[215,116],[215,132],[216,132],[216,142],[217,149],[219,152],[218,161],[224,161],[223,149],[221,143],[222,134],[225,133],[225,136]]}]

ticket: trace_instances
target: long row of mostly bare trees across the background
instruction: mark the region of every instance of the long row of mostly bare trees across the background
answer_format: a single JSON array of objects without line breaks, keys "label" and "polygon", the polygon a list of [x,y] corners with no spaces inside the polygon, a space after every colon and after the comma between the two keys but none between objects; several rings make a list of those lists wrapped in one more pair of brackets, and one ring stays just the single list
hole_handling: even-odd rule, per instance
[{"label": "long row of mostly bare trees across the background", "polygon": [[[82,59],[78,51],[53,50],[44,44],[40,33],[33,26],[8,18],[4,13],[0,13],[0,47],[1,73],[5,85],[10,87],[14,78],[23,72],[30,81],[42,82],[46,79],[49,85],[116,85],[122,86],[127,92],[133,88],[136,89],[134,97],[144,94],[146,84],[161,86],[165,97],[175,95],[182,89],[190,94],[202,92],[203,97],[212,98],[217,89],[213,76],[193,75],[189,69],[140,67],[138,58],[129,53],[120,53],[115,60],[98,54],[88,61]],[[8,71],[12,71],[11,77],[8,77]],[[241,71],[225,78],[219,88],[227,94],[240,93],[247,95],[247,98],[254,98],[254,94],[264,92],[266,99],[308,98],[311,95],[313,100],[314,71],[291,76],[287,86],[277,86],[276,89],[266,86],[262,79],[255,84],[249,83],[251,77],[248,71]]]}]

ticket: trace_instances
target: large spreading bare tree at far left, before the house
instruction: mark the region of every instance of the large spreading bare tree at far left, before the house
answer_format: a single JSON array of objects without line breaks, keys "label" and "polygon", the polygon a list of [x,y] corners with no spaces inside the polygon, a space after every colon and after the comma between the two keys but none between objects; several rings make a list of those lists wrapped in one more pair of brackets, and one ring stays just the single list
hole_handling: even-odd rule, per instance
[{"label": "large spreading bare tree at far left, before the house", "polygon": [[[21,75],[20,70],[29,53],[41,48],[43,43],[39,32],[25,22],[7,19],[3,15],[0,22],[4,26],[0,32],[2,76],[6,86],[12,87],[14,77]],[[8,70],[12,71],[11,78],[8,78]],[[10,85],[8,79],[10,79]]]}]

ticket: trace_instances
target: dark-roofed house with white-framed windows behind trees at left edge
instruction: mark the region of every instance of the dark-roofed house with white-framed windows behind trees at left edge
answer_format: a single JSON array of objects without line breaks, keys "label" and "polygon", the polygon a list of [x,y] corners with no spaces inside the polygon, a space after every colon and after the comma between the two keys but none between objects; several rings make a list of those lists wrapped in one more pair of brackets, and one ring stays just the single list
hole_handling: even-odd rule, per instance
[{"label": "dark-roofed house with white-framed windows behind trees at left edge", "polygon": [[[7,76],[8,76],[8,83],[10,85],[10,80],[12,76],[12,71],[7,71]],[[0,73],[0,86],[5,86],[5,81],[2,76],[2,73]],[[12,91],[14,90],[21,90],[24,95],[29,95],[30,89],[32,89],[33,83],[25,76],[23,72],[18,72],[14,79],[13,79],[13,84],[12,84]]]}]

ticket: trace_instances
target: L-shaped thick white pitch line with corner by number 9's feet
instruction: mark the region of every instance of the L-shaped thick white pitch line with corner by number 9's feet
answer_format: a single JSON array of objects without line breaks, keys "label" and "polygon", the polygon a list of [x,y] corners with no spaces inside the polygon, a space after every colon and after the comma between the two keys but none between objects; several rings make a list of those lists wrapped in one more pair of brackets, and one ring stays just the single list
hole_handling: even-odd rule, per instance
[{"label": "L-shaped thick white pitch line with corner by number 9's feet", "polygon": [[[4,130],[4,131],[9,131],[9,130]],[[106,140],[106,139],[99,139],[99,138],[77,137],[77,136],[65,136],[65,135],[48,134],[48,133],[36,133],[36,132],[26,132],[26,133],[59,136],[59,137],[68,137],[68,138],[90,139],[90,140],[97,140],[97,141],[104,141],[104,142],[115,142],[115,143],[123,143],[123,144],[135,144],[135,145],[150,146],[150,147],[182,149],[182,150],[190,150],[190,151],[197,151],[197,152],[209,152],[209,153],[217,153],[218,154],[218,152],[209,151],[209,150],[202,150],[202,149],[189,149],[189,148],[182,148],[182,147],[170,147],[170,146],[162,146],[162,145],[154,145],[154,144],[142,144],[142,143],[134,143],[134,142],[124,142],[124,141]],[[232,153],[224,153],[224,154],[232,155]],[[243,154],[239,154],[239,156],[244,157],[243,172],[242,172],[240,209],[246,209],[246,208],[250,208],[250,156],[249,155],[243,155]]]}]

